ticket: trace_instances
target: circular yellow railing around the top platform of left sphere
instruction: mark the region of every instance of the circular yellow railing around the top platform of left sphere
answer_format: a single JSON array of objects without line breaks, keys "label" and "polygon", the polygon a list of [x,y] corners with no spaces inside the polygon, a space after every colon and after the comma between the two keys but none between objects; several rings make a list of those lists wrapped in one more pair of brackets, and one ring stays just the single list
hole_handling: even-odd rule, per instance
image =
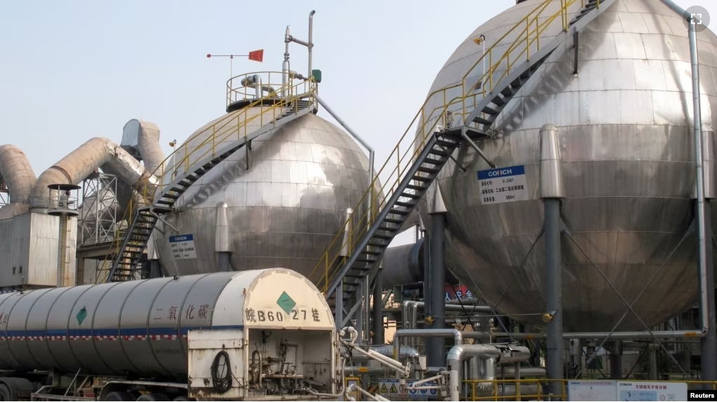
[{"label": "circular yellow railing around the top platform of left sphere", "polygon": [[300,79],[294,73],[250,72],[237,75],[227,81],[227,106],[241,101],[254,101],[259,97],[293,97],[295,94],[310,92],[314,85],[315,82]]}]

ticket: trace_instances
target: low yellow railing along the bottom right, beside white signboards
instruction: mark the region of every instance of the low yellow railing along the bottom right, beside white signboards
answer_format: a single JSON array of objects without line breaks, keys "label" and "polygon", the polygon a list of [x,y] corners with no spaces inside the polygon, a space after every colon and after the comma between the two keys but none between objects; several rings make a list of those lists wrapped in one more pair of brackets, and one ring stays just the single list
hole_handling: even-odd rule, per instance
[{"label": "low yellow railing along the bottom right, beside white signboards", "polygon": [[[465,391],[461,390],[460,401],[568,401],[569,379],[549,380],[547,378],[522,378],[520,380],[464,380]],[[655,382],[629,380],[630,383]],[[705,386],[717,389],[717,381],[659,381],[660,383],[686,383],[688,390],[703,389]],[[550,393],[552,384],[559,383],[559,393]],[[467,394],[466,394],[467,393]],[[617,396],[619,398],[619,395]]]}]

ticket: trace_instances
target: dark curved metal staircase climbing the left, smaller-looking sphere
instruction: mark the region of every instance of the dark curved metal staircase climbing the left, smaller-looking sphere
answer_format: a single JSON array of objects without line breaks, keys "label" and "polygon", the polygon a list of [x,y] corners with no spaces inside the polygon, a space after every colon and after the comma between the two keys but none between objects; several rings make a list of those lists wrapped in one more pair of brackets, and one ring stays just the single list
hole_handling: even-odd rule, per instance
[{"label": "dark curved metal staircase climbing the left, smaller-looking sphere", "polygon": [[158,197],[154,197],[151,206],[137,208],[133,214],[132,222],[128,227],[127,234],[120,246],[119,252],[115,255],[107,281],[117,282],[134,279],[136,267],[140,262],[145,247],[147,247],[147,242],[150,239],[152,231],[160,219],[159,215],[172,212],[176,200],[178,200],[194,182],[233,155],[234,152],[242,149],[244,145],[251,142],[252,139],[281,127],[283,124],[294,119],[298,119],[304,114],[313,112],[313,100],[295,100],[288,104],[287,109],[286,112],[272,122],[264,124],[259,129],[245,137],[237,139],[231,144],[227,144],[227,146],[219,149],[214,155],[208,155],[199,162],[196,162],[191,169],[178,175],[170,185],[166,186],[167,190],[163,190]]}]

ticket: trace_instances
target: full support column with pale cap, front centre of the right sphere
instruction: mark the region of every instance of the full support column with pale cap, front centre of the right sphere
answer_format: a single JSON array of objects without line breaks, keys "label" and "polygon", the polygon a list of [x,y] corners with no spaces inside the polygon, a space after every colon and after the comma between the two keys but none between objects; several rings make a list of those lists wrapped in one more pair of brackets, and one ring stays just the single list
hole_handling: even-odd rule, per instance
[{"label": "full support column with pale cap, front centre of the right sphere", "polygon": [[[545,291],[548,323],[546,371],[548,378],[563,378],[563,309],[560,199],[565,197],[558,129],[545,124],[540,131],[540,190],[545,208]],[[561,394],[561,383],[551,381],[551,393]]]}]

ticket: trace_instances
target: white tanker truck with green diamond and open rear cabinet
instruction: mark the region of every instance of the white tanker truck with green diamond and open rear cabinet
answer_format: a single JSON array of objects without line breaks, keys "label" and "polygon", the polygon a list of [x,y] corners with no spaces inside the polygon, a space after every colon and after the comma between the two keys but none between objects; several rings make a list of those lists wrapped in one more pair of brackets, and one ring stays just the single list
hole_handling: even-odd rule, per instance
[{"label": "white tanker truck with green diamond and open rear cabinet", "polygon": [[0,295],[0,401],[336,400],[326,298],[273,268]]}]

